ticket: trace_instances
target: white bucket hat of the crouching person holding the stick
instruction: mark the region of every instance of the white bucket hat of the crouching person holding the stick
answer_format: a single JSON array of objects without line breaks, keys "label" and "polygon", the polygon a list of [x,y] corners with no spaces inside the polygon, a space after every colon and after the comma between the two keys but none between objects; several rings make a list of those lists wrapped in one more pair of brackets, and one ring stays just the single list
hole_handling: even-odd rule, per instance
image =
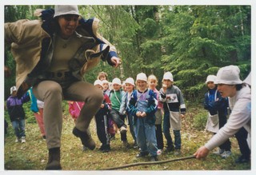
[{"label": "white bucket hat of the crouching person holding the stick", "polygon": [[225,66],[218,70],[215,84],[238,85],[242,84],[239,78],[240,70],[238,66]]}]

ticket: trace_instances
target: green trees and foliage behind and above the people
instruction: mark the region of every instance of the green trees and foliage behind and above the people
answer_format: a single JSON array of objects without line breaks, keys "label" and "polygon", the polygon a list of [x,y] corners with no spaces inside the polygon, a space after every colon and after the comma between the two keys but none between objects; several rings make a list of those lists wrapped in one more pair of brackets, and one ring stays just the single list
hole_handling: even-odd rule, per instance
[{"label": "green trees and foliage behind and above the people", "polygon": [[[5,6],[5,22],[34,19],[35,9],[48,6]],[[85,75],[94,82],[99,72],[109,80],[136,77],[144,72],[162,79],[174,74],[174,83],[187,100],[202,99],[204,82],[222,66],[237,65],[241,78],[251,68],[251,6],[78,6],[85,18],[99,18],[98,32],[110,41],[122,58],[122,68],[101,62]],[[7,49],[7,48],[6,48]],[[7,58],[12,58],[10,52]],[[5,81],[5,98],[14,85],[13,72]],[[160,85],[160,82],[159,82]],[[160,88],[160,87],[159,87]]]}]

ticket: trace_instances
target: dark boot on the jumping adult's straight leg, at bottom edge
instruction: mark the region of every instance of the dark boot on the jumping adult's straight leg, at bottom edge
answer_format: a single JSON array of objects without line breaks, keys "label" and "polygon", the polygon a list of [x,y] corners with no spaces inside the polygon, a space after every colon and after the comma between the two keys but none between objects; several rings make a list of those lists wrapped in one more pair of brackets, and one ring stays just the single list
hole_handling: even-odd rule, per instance
[{"label": "dark boot on the jumping adult's straight leg, at bottom edge", "polygon": [[60,169],[62,169],[60,161],[61,161],[60,148],[49,149],[49,157],[48,157],[48,163],[46,165],[46,170],[50,170],[50,169],[60,170]]}]

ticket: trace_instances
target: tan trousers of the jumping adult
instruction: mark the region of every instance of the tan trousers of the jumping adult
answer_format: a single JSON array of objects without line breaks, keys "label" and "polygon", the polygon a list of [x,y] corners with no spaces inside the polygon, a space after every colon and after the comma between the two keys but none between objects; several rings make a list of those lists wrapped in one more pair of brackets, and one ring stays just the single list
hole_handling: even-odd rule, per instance
[{"label": "tan trousers of the jumping adult", "polygon": [[34,96],[44,101],[44,124],[47,148],[61,146],[62,100],[85,101],[80,116],[75,123],[77,129],[86,131],[90,121],[103,101],[103,93],[88,82],[72,82],[65,89],[54,81],[39,82],[33,87]]}]

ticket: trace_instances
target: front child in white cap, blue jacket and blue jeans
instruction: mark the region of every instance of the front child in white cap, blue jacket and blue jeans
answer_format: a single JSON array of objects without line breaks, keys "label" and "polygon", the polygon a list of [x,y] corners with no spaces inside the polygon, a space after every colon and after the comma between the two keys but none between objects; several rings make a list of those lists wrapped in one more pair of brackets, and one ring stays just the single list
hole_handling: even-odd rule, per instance
[{"label": "front child in white cap, blue jacket and blue jeans", "polygon": [[154,91],[147,88],[146,74],[137,75],[136,88],[129,102],[129,113],[134,116],[134,132],[140,148],[136,157],[146,157],[150,153],[150,161],[158,161],[154,127],[157,104]]}]

